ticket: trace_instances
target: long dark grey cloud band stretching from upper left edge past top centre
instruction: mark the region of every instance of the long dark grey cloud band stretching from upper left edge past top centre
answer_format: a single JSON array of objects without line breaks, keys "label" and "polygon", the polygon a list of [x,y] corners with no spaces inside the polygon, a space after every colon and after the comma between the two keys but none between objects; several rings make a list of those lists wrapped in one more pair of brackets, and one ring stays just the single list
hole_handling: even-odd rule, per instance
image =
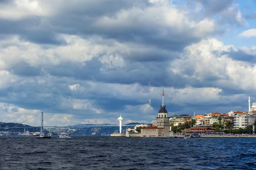
[{"label": "long dark grey cloud band stretching from upper left edge past top centre", "polygon": [[[0,20],[0,32],[4,34],[18,34],[24,40],[38,44],[63,44],[56,34],[70,35],[99,35],[106,39],[115,39],[119,42],[137,42],[149,44],[160,49],[181,51],[186,45],[198,42],[199,37],[194,37],[189,32],[177,33],[177,28],[158,25],[154,20],[143,20],[142,15],[127,18],[126,23],[120,20],[119,13],[130,9],[146,9],[150,7],[147,1],[97,1],[67,2],[59,5],[51,17],[29,16],[20,20]],[[111,10],[110,10],[111,9]],[[106,18],[114,23],[102,22]],[[137,19],[138,18],[138,19]],[[188,29],[189,30],[189,29]],[[162,32],[166,34],[162,35]]]}]

